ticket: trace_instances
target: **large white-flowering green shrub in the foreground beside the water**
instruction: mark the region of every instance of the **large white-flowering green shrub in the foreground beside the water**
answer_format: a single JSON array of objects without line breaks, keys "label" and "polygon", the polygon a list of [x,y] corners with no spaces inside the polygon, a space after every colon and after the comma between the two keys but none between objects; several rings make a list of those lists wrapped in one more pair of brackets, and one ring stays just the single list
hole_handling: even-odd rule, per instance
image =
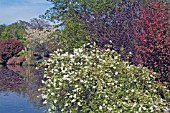
[{"label": "large white-flowering green shrub in the foreground beside the water", "polygon": [[113,50],[102,50],[95,44],[73,53],[58,49],[45,65],[41,97],[49,105],[49,113],[150,113],[168,109],[169,90],[155,84],[157,74],[121,61]]}]

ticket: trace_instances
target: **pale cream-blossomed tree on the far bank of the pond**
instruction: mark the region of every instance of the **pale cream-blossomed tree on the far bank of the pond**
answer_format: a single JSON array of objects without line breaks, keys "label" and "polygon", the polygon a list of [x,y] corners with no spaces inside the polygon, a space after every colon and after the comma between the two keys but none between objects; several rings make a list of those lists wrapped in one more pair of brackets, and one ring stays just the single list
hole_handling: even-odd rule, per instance
[{"label": "pale cream-blossomed tree on the far bank of the pond", "polygon": [[[27,62],[31,62],[31,58],[34,51],[45,52],[53,51],[55,49],[54,44],[57,44],[58,34],[54,27],[40,29],[26,29],[24,53],[26,55]],[[57,35],[56,35],[57,34]],[[50,47],[50,48],[49,48]]]}]

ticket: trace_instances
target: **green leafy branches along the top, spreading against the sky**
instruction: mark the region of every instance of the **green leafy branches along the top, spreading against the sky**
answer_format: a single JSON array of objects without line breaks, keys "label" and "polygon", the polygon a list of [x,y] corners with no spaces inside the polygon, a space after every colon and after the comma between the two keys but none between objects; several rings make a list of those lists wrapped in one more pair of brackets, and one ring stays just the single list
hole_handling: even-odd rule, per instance
[{"label": "green leafy branches along the top, spreading against the sky", "polygon": [[92,14],[99,10],[109,10],[121,0],[47,0],[54,4],[41,18],[63,25],[71,17],[81,17],[82,14]]}]

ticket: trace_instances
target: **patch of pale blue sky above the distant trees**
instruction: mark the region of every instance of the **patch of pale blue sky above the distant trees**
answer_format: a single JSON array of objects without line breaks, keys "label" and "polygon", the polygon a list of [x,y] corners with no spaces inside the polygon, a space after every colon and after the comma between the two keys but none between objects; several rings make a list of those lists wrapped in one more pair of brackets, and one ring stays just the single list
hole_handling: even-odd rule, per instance
[{"label": "patch of pale blue sky above the distant trees", "polygon": [[0,0],[0,24],[38,18],[52,7],[46,0]]}]

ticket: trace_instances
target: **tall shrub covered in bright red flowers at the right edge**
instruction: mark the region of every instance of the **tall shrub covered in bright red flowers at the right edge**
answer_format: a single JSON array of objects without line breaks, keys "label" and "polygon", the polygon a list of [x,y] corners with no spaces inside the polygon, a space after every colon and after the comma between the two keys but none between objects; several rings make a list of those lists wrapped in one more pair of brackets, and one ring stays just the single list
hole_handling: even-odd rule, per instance
[{"label": "tall shrub covered in bright red flowers at the right edge", "polygon": [[161,82],[170,82],[170,5],[147,0],[140,7],[141,17],[136,20],[138,37],[136,62],[160,73]]}]

